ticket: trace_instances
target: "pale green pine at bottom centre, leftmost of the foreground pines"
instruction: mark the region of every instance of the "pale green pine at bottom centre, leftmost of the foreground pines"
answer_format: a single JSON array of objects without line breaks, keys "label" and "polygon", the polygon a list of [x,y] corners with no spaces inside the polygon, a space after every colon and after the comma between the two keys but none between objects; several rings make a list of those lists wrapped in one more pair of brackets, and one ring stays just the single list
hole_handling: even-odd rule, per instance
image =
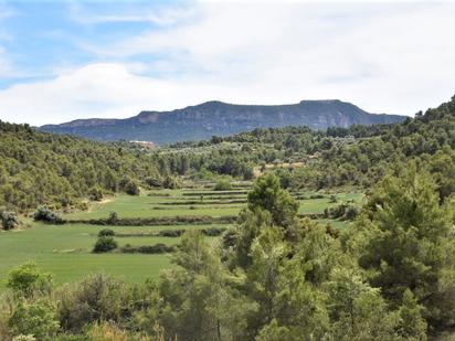
[{"label": "pale green pine at bottom centre, leftmost of the foreground pines", "polygon": [[255,305],[229,285],[241,278],[226,273],[202,233],[187,232],[172,263],[177,268],[161,277],[155,312],[166,339],[244,340]]}]

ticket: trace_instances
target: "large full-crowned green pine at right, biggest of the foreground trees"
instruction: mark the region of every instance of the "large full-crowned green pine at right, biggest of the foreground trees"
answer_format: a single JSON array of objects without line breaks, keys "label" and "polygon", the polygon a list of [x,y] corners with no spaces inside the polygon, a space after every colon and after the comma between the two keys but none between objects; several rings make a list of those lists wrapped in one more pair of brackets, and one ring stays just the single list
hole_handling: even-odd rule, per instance
[{"label": "large full-crowned green pine at right, biggest of the foreground trees", "polygon": [[433,326],[443,323],[434,320],[438,303],[433,297],[455,260],[447,252],[453,243],[449,226],[431,175],[410,164],[375,187],[351,231],[353,239],[361,241],[359,264],[368,269],[371,285],[394,307],[410,289]]}]

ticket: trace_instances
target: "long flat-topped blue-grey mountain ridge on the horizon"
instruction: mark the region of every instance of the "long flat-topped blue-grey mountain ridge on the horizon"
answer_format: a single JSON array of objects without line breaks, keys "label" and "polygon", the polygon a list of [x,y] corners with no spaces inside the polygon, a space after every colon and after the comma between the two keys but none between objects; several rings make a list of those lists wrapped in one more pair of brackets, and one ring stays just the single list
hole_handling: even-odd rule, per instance
[{"label": "long flat-topped blue-grey mountain ridge on the horizon", "polygon": [[77,119],[46,125],[43,131],[71,134],[94,140],[141,140],[158,145],[201,140],[254,128],[308,126],[313,129],[355,124],[393,124],[405,116],[370,114],[338,99],[301,100],[290,105],[235,105],[218,100],[172,111],[141,111],[126,119]]}]

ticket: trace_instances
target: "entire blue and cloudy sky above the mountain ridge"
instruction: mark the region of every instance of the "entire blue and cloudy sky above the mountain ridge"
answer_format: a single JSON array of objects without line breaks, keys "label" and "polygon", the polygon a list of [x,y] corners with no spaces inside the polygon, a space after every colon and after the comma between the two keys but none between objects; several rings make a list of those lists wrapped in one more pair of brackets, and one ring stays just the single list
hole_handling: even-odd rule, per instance
[{"label": "entire blue and cloudy sky above the mountain ridge", "polygon": [[454,18],[436,0],[0,0],[0,120],[303,99],[412,116],[455,94]]}]

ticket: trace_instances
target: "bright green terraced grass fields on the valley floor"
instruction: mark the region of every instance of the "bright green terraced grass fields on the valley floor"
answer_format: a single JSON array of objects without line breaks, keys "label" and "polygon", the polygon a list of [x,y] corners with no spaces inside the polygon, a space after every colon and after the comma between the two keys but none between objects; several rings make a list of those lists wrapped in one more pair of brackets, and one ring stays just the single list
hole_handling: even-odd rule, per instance
[{"label": "bright green terraced grass fields on the valley floor", "polygon": [[[200,192],[205,191],[201,201]],[[142,193],[139,196],[120,194],[102,203],[92,204],[88,211],[65,214],[65,219],[85,220],[107,217],[110,212],[117,212],[119,217],[159,217],[181,215],[236,215],[244,203],[230,203],[233,200],[245,200],[245,193],[213,193],[211,190],[172,190],[154,191],[154,195]],[[299,193],[309,198],[314,193]],[[343,201],[360,202],[358,193],[337,194],[337,203],[329,202],[329,195],[322,199],[299,201],[299,213],[322,213],[324,209],[337,205]],[[194,201],[199,201],[194,203]],[[215,204],[205,203],[216,201]],[[192,204],[188,204],[192,202]],[[319,220],[327,224],[329,221]],[[334,227],[343,228],[346,222],[330,221]],[[170,255],[141,254],[93,254],[97,233],[108,226],[87,224],[45,225],[30,223],[31,227],[22,231],[0,233],[0,289],[4,288],[4,279],[11,267],[27,260],[36,262],[43,269],[54,274],[57,285],[77,280],[89,273],[104,271],[126,281],[138,283],[147,278],[157,278],[159,273],[169,268]],[[150,233],[173,228],[221,227],[222,225],[172,225],[172,226],[110,226],[116,233]],[[228,225],[224,225],[228,226]],[[215,239],[215,238],[211,238]],[[180,238],[158,236],[116,237],[119,246],[154,245],[163,243],[177,244]]]}]

